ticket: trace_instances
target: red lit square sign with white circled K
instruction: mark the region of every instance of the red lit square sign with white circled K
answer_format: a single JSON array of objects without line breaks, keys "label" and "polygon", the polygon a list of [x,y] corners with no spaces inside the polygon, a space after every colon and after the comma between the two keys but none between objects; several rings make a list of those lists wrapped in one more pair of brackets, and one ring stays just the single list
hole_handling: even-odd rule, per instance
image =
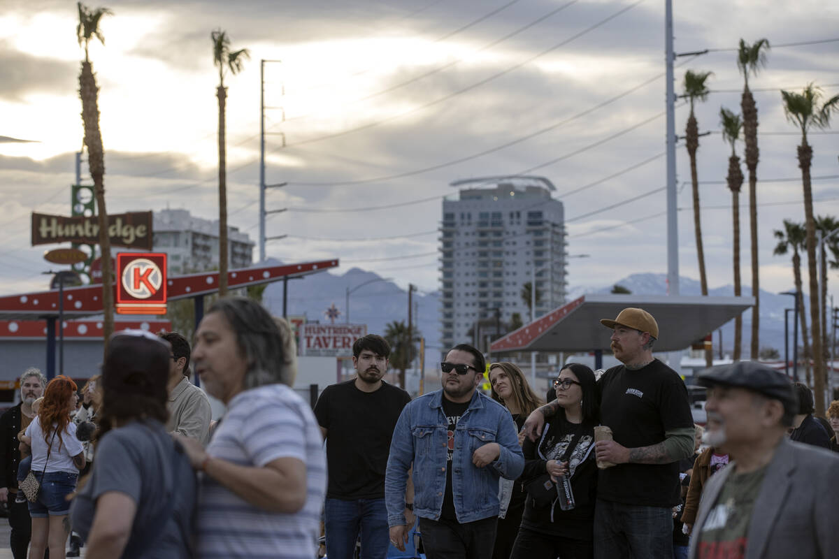
[{"label": "red lit square sign with white circled K", "polygon": [[166,254],[117,254],[117,313],[166,313]]}]

